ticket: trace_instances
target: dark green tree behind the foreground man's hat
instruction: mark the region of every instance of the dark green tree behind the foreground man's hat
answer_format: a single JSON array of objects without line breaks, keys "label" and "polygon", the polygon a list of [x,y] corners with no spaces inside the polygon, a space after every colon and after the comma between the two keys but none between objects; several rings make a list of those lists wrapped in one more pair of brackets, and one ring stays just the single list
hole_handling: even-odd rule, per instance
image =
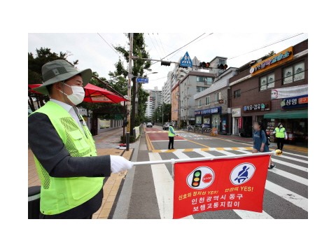
[{"label": "dark green tree behind the foreground man's hat", "polygon": [[[41,84],[43,82],[41,69],[43,64],[56,59],[64,59],[67,62],[70,52],[52,52],[50,48],[36,49],[36,55],[32,52],[28,52],[28,84]],[[78,60],[69,62],[73,66],[78,64]],[[31,111],[35,111],[34,101],[36,101],[37,107],[40,108],[48,101],[48,96],[44,94],[37,94],[28,92],[28,105]]]}]

